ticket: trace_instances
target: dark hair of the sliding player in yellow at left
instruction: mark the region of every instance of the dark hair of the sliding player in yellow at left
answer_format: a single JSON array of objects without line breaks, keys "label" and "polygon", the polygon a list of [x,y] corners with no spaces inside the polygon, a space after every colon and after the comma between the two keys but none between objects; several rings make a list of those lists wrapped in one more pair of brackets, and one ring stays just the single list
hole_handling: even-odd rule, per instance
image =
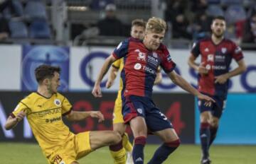
[{"label": "dark hair of the sliding player in yellow at left", "polygon": [[54,72],[58,72],[60,74],[59,66],[50,66],[46,64],[42,64],[35,69],[36,81],[41,83],[46,78],[52,78],[54,76]]}]

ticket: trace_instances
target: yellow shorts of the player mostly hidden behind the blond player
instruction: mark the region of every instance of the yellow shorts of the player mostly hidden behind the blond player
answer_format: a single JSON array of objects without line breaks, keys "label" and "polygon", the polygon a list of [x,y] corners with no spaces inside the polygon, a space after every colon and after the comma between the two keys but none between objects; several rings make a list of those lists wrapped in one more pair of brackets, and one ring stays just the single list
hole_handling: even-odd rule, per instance
[{"label": "yellow shorts of the player mostly hidden behind the blond player", "polygon": [[122,98],[121,92],[118,91],[117,99],[114,102],[114,112],[113,112],[113,124],[124,123],[122,116]]}]

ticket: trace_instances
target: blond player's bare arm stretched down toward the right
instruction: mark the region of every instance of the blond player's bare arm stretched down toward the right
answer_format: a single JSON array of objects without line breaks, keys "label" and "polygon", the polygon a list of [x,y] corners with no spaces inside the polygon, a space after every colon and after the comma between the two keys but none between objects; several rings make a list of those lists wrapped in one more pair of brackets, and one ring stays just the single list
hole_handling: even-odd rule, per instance
[{"label": "blond player's bare arm stretched down toward the right", "polygon": [[175,71],[171,71],[168,74],[168,76],[169,76],[169,78],[171,78],[171,81],[173,81],[176,85],[183,88],[183,90],[188,91],[188,93],[192,93],[193,95],[196,95],[199,99],[215,102],[215,100],[208,97],[207,95],[203,95],[202,93],[198,92],[198,90],[196,90],[196,88],[193,88],[193,86],[191,86],[184,78],[182,78],[180,75],[176,74]]}]

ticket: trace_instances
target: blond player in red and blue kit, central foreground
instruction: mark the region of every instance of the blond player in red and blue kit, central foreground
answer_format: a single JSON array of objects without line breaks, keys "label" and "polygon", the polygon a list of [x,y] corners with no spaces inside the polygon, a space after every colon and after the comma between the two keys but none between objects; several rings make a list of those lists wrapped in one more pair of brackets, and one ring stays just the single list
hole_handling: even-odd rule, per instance
[{"label": "blond player in red and blue kit, central foreground", "polygon": [[151,100],[152,87],[159,65],[168,74],[171,81],[184,90],[193,93],[199,99],[214,101],[207,95],[199,93],[176,74],[174,71],[176,64],[172,61],[166,46],[161,44],[165,32],[165,21],[161,18],[150,18],[146,23],[144,40],[129,38],[121,42],[114,49],[112,55],[105,60],[92,90],[95,97],[102,97],[100,89],[102,78],[113,61],[124,58],[124,69],[122,69],[121,77],[124,84],[122,95],[124,95],[125,101],[123,102],[122,115],[124,123],[130,125],[134,135],[132,150],[134,164],[144,163],[144,145],[148,130],[164,141],[149,161],[150,164],[163,163],[180,144],[171,122]]}]

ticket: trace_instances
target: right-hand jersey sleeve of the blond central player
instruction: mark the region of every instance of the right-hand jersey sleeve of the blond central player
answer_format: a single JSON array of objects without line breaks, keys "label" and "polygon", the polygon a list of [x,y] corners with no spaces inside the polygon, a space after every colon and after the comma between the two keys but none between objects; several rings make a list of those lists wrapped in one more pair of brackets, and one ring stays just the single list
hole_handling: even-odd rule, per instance
[{"label": "right-hand jersey sleeve of the blond central player", "polygon": [[169,51],[166,47],[163,49],[164,57],[161,60],[161,67],[164,69],[166,74],[170,73],[175,69],[176,64],[171,59],[171,55],[169,54]]}]

